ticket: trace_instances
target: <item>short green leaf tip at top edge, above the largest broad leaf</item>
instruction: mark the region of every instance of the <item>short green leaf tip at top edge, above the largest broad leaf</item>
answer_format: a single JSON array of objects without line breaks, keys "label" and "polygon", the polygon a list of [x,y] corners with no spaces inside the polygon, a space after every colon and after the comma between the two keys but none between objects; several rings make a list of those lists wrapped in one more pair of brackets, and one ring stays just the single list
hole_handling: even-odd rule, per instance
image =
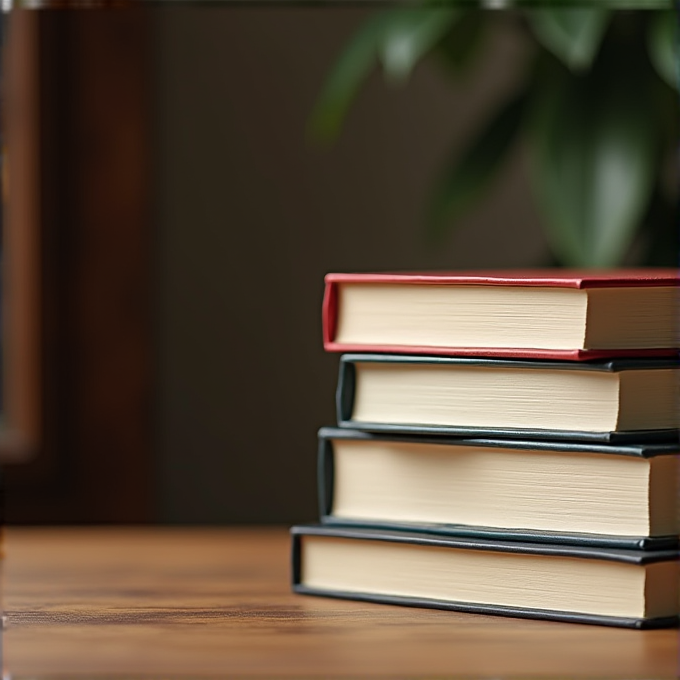
[{"label": "short green leaf tip at top edge, above the largest broad leaf", "polygon": [[610,11],[604,8],[541,8],[529,12],[538,41],[572,70],[587,69],[597,54]]}]

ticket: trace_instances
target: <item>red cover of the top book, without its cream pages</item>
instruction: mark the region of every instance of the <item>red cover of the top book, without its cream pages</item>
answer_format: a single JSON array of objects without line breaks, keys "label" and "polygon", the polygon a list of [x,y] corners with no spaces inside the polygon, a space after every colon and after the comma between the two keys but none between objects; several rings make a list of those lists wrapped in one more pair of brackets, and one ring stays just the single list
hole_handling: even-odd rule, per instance
[{"label": "red cover of the top book, without its cream pages", "polygon": [[672,268],[630,269],[508,269],[457,272],[391,272],[327,274],[323,300],[323,341],[329,352],[391,352],[398,354],[442,354],[448,356],[516,357],[529,359],[589,359],[624,356],[677,356],[678,350],[553,350],[489,347],[418,347],[413,345],[356,345],[335,342],[338,316],[338,284],[399,283],[410,285],[536,286],[556,288],[619,288],[640,286],[680,286],[680,271]]}]

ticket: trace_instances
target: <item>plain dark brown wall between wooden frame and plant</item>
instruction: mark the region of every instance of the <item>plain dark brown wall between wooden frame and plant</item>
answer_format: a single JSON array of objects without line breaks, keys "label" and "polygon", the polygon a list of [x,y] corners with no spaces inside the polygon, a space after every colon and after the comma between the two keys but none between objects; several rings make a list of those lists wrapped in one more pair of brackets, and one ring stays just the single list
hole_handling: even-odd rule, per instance
[{"label": "plain dark brown wall between wooden frame and plant", "polygon": [[312,519],[337,367],[321,348],[323,275],[547,259],[521,152],[455,236],[423,238],[433,172],[511,85],[521,45],[500,31],[455,88],[433,64],[400,89],[372,77],[321,150],[305,122],[364,11],[154,16],[160,518]]}]

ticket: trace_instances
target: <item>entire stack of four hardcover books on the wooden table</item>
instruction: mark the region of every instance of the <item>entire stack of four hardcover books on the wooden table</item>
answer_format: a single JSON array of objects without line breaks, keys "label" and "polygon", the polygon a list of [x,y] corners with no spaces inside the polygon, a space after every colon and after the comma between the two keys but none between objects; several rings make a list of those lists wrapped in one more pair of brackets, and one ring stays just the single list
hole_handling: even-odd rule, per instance
[{"label": "entire stack of four hardcover books on the wooden table", "polygon": [[299,593],[674,626],[678,274],[331,274]]}]

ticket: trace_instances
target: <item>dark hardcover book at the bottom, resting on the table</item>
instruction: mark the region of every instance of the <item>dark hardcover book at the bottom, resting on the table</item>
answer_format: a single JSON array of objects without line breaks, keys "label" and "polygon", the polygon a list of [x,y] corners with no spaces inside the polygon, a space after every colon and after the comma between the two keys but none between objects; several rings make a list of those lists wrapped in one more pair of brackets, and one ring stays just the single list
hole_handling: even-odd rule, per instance
[{"label": "dark hardcover book at the bottom, resting on the table", "polygon": [[296,526],[293,590],[628,628],[677,626],[678,552]]}]

